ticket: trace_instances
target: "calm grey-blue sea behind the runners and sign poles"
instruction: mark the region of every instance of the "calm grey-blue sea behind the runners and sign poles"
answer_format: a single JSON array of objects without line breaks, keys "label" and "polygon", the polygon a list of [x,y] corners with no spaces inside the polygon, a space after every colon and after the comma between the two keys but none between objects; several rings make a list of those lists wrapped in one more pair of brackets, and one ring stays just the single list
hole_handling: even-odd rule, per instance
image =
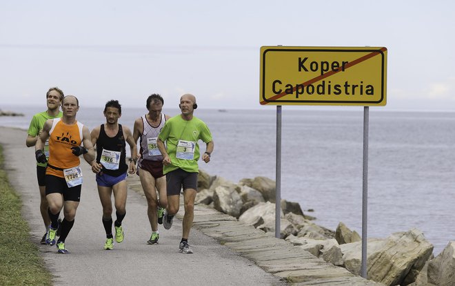
[{"label": "calm grey-blue sea behind the runners and sign poles", "polygon": [[[343,222],[361,234],[363,107],[286,107],[281,117],[281,198],[299,202],[318,225],[335,230]],[[23,129],[45,109],[0,108],[24,115],[0,117],[0,126]],[[123,108],[119,122],[132,129],[146,112]],[[163,113],[173,116],[179,110],[164,108]],[[208,124],[214,139],[211,161],[201,161],[201,169],[234,183],[256,176],[276,179],[274,108],[198,108],[195,116]],[[91,130],[105,122],[103,108],[81,107],[77,119]],[[438,255],[455,239],[455,113],[371,107],[368,127],[368,238],[417,228]]]}]

